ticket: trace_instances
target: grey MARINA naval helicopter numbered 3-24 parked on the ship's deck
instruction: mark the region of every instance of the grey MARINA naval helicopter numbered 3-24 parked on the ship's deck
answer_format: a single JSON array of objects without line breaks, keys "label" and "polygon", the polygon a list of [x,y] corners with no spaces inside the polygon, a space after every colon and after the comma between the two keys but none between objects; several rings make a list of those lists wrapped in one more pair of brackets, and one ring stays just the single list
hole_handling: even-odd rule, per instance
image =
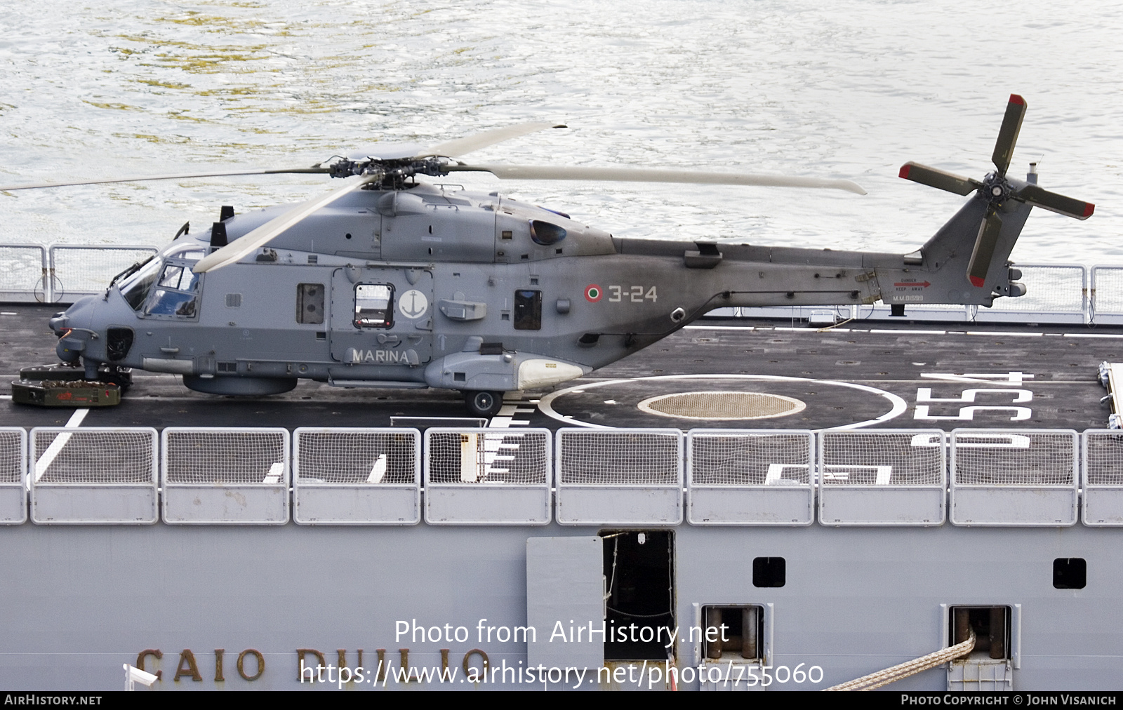
[{"label": "grey MARINA naval helicopter numbered 3-24 parked on the ship's deck", "polygon": [[[1007,174],[1026,109],[1012,94],[983,180],[919,163],[900,176],[967,202],[910,254],[622,239],[497,192],[420,176],[677,182],[837,189],[847,180],[628,167],[471,164],[464,155],[550,127],[521,124],[427,149],[311,167],[149,175],[0,190],[322,173],[348,184],[295,206],[235,215],[176,238],[101,295],[51,318],[64,363],[88,380],[124,368],[182,375],[195,391],[268,395],[301,379],[337,386],[447,388],[492,416],[503,393],[581,377],[724,307],[960,303],[1025,286],[1008,261],[1033,207],[1087,219],[1094,206]],[[564,127],[564,126],[562,126]],[[974,193],[974,194],[973,194]]]}]

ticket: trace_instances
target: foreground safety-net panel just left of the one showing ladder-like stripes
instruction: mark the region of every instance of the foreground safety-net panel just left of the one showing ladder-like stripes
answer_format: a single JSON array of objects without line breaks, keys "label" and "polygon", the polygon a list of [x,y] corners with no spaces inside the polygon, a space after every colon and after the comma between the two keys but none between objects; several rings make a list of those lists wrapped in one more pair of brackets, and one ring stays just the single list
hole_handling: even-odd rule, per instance
[{"label": "foreground safety-net panel just left of the one showing ladder-like stripes", "polygon": [[296,482],[417,482],[417,431],[296,431]]}]

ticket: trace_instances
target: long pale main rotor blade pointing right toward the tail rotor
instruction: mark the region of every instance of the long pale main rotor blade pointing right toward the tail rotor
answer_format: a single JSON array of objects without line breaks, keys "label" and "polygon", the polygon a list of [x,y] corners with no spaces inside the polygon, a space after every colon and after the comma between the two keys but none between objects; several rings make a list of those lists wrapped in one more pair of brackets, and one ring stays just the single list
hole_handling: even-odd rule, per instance
[{"label": "long pale main rotor blade pointing right toward the tail rotor", "polygon": [[707,173],[688,170],[641,167],[562,167],[554,165],[447,165],[449,172],[492,173],[501,180],[596,180],[609,182],[678,182],[710,185],[761,185],[768,188],[828,188],[866,194],[849,180],[760,175],[752,173]]}]

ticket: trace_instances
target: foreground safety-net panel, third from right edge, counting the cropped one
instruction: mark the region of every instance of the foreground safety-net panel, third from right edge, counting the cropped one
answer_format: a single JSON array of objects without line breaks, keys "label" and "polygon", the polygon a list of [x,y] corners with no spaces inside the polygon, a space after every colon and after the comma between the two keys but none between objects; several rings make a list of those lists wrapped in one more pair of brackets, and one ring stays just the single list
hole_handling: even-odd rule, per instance
[{"label": "foreground safety-net panel, third from right edge, counting the cropped one", "polygon": [[943,437],[939,431],[824,431],[824,485],[940,485]]}]

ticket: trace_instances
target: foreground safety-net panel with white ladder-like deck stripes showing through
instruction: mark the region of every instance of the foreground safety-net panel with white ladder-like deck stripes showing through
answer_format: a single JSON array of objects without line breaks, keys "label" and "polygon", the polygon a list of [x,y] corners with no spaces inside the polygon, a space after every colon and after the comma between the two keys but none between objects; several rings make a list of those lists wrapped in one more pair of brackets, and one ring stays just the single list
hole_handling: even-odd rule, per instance
[{"label": "foreground safety-net panel with white ladder-like deck stripes showing through", "polygon": [[546,430],[430,429],[426,433],[428,483],[546,485],[549,445]]}]

